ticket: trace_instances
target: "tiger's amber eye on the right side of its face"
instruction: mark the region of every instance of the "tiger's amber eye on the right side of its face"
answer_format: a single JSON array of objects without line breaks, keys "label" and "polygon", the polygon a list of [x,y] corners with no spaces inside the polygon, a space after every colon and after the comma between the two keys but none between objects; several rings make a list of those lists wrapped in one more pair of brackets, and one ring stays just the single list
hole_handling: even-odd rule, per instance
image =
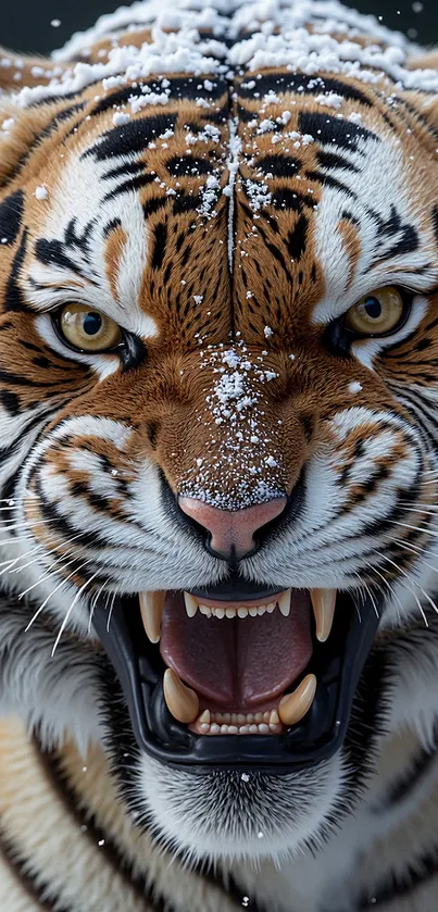
[{"label": "tiger's amber eye on the right side of its face", "polygon": [[404,315],[404,302],[392,285],[365,295],[347,311],[345,326],[362,336],[386,336],[397,329]]}]

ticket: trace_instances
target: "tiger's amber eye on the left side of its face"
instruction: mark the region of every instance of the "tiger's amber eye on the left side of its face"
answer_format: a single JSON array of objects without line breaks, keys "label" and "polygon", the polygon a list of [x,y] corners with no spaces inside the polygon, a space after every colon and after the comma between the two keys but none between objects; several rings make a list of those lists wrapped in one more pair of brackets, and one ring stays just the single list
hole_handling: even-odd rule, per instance
[{"label": "tiger's amber eye on the left side of its face", "polygon": [[108,351],[122,340],[120,326],[87,304],[65,304],[59,325],[66,341],[80,351]]}]

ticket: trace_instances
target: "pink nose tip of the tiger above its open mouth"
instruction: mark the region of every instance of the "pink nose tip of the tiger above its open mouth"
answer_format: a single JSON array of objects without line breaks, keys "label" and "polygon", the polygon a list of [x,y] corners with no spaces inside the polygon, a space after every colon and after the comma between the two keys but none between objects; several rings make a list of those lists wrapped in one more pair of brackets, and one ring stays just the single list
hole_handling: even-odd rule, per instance
[{"label": "pink nose tip of the tiger above its open mouth", "polygon": [[287,497],[277,497],[265,503],[242,510],[221,510],[193,497],[180,497],[180,509],[210,533],[209,547],[224,558],[245,558],[255,547],[254,534],[266,523],[276,520],[286,504]]}]

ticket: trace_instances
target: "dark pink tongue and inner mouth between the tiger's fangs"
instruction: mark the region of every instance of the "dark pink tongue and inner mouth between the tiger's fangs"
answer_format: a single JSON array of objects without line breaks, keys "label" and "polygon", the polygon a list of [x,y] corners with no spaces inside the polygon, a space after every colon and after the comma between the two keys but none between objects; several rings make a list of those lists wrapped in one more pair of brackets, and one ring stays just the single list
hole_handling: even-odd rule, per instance
[{"label": "dark pink tongue and inner mouth between the tiger's fangs", "polygon": [[[238,603],[236,603],[238,607]],[[245,710],[284,694],[312,654],[306,592],[292,591],[290,614],[188,617],[183,596],[167,594],[161,654],[208,705]]]}]

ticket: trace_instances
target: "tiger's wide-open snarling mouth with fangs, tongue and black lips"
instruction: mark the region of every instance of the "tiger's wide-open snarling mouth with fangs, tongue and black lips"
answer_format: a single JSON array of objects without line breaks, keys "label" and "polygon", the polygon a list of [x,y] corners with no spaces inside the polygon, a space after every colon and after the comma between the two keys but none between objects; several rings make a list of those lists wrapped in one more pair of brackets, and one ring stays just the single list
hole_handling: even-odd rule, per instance
[{"label": "tiger's wide-open snarling mouth with fangs, tongue and black lips", "polygon": [[141,749],[185,769],[288,772],[333,755],[378,625],[375,604],[240,577],[103,602],[95,628]]}]

